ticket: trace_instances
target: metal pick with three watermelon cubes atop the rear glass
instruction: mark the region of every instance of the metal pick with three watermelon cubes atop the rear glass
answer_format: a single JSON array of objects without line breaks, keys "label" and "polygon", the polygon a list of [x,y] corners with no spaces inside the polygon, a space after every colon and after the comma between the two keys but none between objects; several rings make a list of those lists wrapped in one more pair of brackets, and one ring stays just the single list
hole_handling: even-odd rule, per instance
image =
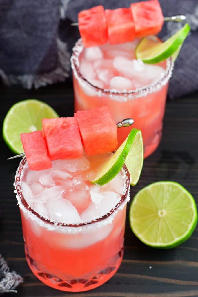
[{"label": "metal pick with three watermelon cubes atop the rear glass", "polygon": [[85,48],[131,42],[134,38],[156,35],[164,20],[183,21],[184,15],[163,17],[158,0],[131,4],[130,8],[106,9],[102,5],[82,10],[78,14],[80,36]]}]

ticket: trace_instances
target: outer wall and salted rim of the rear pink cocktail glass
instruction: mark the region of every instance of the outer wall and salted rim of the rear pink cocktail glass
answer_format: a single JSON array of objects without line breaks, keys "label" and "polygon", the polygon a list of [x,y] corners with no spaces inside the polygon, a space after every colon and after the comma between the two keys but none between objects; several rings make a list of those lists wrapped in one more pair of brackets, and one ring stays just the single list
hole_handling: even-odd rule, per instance
[{"label": "outer wall and salted rim of the rear pink cocktail glass", "polygon": [[[164,73],[153,83],[122,92],[96,87],[80,73],[79,56],[83,48],[83,42],[79,39],[71,57],[75,111],[107,105],[115,122],[133,118],[132,127],[142,131],[144,157],[148,157],[161,140],[168,82],[174,66],[172,58],[161,63]],[[118,129],[119,145],[126,139],[132,127]]]}]

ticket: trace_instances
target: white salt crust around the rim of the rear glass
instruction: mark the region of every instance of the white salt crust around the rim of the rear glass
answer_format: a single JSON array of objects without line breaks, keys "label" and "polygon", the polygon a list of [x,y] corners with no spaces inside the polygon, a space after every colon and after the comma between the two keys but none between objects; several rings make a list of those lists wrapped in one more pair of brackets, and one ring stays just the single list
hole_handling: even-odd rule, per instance
[{"label": "white salt crust around the rim of the rear glass", "polygon": [[[80,38],[73,48],[73,54],[71,56],[71,67],[73,69],[73,73],[75,78],[78,80],[80,84],[86,84],[91,87],[93,87],[97,91],[97,96],[109,96],[111,99],[116,101],[127,101],[127,99],[134,99],[139,97],[145,97],[148,94],[151,94],[153,92],[157,92],[162,86],[165,86],[168,80],[170,80],[172,76],[172,70],[174,67],[174,61],[172,57],[169,57],[167,59],[167,67],[165,71],[162,73],[162,75],[155,80],[150,85],[144,86],[142,88],[138,88],[135,90],[130,91],[118,91],[114,89],[102,89],[97,86],[94,86],[94,84],[90,83],[86,78],[83,77],[83,75],[80,73],[80,62],[79,62],[79,55],[82,52],[84,46],[83,41]],[[126,98],[127,97],[127,98]]]}]

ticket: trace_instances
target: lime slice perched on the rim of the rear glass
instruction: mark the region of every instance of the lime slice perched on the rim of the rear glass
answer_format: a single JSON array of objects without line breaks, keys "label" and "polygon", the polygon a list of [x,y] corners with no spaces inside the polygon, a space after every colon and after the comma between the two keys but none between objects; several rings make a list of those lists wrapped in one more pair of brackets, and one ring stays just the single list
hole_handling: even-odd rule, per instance
[{"label": "lime slice perched on the rim of the rear glass", "polygon": [[147,37],[143,38],[135,50],[137,59],[148,64],[164,61],[178,50],[186,39],[189,31],[190,26],[186,24],[165,42],[154,42]]}]

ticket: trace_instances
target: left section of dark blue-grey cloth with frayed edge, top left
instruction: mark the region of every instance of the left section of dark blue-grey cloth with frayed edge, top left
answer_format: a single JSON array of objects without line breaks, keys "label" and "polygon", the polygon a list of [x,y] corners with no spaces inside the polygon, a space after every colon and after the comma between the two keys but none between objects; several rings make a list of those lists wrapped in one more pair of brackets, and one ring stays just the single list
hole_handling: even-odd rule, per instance
[{"label": "left section of dark blue-grey cloth with frayed edge, top left", "polygon": [[65,80],[69,54],[57,31],[67,2],[0,0],[0,75],[5,83],[31,88]]}]

